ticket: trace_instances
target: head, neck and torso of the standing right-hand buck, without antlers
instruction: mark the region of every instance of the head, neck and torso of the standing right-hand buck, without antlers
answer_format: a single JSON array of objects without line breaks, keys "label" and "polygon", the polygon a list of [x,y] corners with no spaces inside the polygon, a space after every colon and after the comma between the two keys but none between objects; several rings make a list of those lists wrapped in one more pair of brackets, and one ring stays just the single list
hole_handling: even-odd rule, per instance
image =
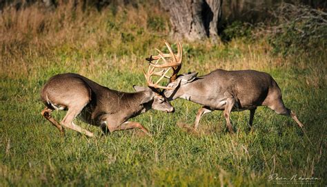
[{"label": "head, neck and torso of the standing right-hand buck, without antlers", "polygon": [[269,93],[280,93],[269,74],[255,70],[216,69],[199,77],[194,77],[194,73],[183,74],[168,87],[175,87],[164,92],[168,100],[184,98],[212,108],[221,106],[220,102],[230,96],[237,100],[239,107],[255,107],[261,105]]}]

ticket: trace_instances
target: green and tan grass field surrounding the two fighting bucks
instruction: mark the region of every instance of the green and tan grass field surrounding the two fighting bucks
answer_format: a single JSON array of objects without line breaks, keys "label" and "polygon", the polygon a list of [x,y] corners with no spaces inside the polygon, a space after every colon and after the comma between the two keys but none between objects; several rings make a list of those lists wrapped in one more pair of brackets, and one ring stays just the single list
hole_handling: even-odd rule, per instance
[{"label": "green and tan grass field surrounding the two fighting bucks", "polygon": [[[200,105],[186,100],[171,102],[175,113],[152,110],[131,119],[152,137],[138,130],[101,135],[79,120],[95,138],[71,130],[61,136],[40,114],[40,89],[48,78],[75,72],[132,92],[132,85],[146,85],[144,58],[155,47],[165,50],[164,40],[175,43],[159,8],[67,8],[8,10],[0,19],[0,186],[275,186],[269,180],[274,173],[327,184],[326,38],[287,55],[273,53],[265,36],[181,41],[181,73],[222,68],[271,74],[308,137],[291,118],[266,107],[257,109],[252,133],[249,111],[232,113],[234,135],[221,111],[204,115],[199,133],[191,133],[181,126],[192,125]],[[53,115],[61,120],[65,112]]]}]

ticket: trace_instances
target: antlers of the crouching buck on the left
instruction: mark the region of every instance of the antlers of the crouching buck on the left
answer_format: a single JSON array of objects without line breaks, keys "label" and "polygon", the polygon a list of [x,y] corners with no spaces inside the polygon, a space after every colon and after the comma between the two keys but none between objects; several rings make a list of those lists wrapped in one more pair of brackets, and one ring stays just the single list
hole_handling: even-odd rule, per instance
[{"label": "antlers of the crouching buck on the left", "polygon": [[[153,65],[157,65],[159,60],[160,59],[158,59],[157,62],[154,63]],[[169,76],[166,76],[166,74],[170,70],[170,68],[171,67],[162,69],[160,72],[155,72],[155,67],[151,67],[151,65],[149,65],[148,72],[144,71],[144,69],[143,69],[143,74],[146,77],[146,82],[148,83],[148,87],[159,88],[159,89],[172,89],[171,87],[164,87],[164,86],[158,85],[159,82],[163,78],[170,78]],[[161,77],[159,78],[159,80],[157,80],[156,83],[153,83],[153,81],[151,80],[151,76],[161,76]]]}]

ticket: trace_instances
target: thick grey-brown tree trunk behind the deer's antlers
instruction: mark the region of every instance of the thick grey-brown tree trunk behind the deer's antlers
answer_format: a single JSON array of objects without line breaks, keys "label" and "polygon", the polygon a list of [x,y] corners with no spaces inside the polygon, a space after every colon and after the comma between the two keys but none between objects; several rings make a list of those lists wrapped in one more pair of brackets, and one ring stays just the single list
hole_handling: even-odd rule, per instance
[{"label": "thick grey-brown tree trunk behind the deer's antlers", "polygon": [[190,41],[217,38],[222,0],[160,0],[170,14],[172,32]]}]

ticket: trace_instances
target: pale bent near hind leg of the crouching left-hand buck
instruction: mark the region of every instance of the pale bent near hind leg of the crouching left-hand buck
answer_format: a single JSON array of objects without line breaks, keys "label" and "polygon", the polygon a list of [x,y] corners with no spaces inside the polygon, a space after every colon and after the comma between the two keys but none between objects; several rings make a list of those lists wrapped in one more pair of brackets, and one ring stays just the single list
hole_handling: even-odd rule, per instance
[{"label": "pale bent near hind leg of the crouching left-hand buck", "polygon": [[[83,109],[83,108],[82,108]],[[65,116],[65,118],[63,118],[63,120],[61,121],[61,124],[63,126],[66,126],[69,129],[72,129],[74,131],[77,131],[79,133],[83,133],[89,137],[93,136],[93,133],[91,133],[90,131],[87,131],[83,128],[81,128],[81,126],[78,126],[76,124],[74,124],[73,120],[75,119],[75,117],[81,112],[80,110],[76,110],[76,109],[68,109],[67,114]]]}]

